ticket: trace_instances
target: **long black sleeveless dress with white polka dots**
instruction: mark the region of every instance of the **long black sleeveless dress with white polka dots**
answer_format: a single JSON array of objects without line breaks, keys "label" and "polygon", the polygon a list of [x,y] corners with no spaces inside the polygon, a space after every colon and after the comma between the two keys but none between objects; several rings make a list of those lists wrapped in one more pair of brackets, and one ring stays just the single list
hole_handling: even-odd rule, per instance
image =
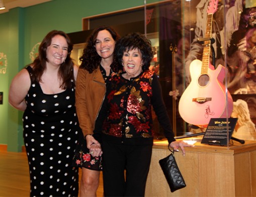
[{"label": "long black sleeveless dress with white polka dots", "polygon": [[[32,74],[32,68],[27,67]],[[77,196],[78,169],[72,158],[80,128],[74,88],[44,94],[31,82],[23,115],[24,143],[30,170],[31,196]]]}]

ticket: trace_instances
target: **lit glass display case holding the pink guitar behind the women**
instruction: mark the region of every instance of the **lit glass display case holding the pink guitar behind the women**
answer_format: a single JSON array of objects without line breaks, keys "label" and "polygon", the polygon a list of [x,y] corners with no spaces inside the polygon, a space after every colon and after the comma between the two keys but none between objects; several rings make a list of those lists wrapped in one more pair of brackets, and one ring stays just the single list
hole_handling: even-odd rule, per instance
[{"label": "lit glass display case holding the pink guitar behind the women", "polygon": [[[248,125],[254,132],[255,5],[249,0],[143,2],[141,7],[84,18],[83,31],[69,34],[76,63],[88,35],[100,25],[112,26],[121,36],[143,33],[152,43],[150,69],[158,75],[176,136],[204,132],[211,118],[230,117],[238,118],[235,132]],[[157,118],[154,130],[157,139],[163,138]],[[254,133],[251,139],[256,139]]]}]

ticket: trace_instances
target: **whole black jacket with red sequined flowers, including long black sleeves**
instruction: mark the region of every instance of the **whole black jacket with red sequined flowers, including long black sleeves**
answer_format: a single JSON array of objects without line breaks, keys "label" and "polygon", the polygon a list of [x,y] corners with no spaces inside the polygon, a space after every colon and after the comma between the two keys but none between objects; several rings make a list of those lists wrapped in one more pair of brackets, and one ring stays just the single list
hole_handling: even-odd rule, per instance
[{"label": "whole black jacket with red sequined flowers, including long black sleeves", "polygon": [[96,122],[97,132],[120,139],[153,139],[153,107],[168,142],[175,141],[161,95],[153,71],[144,71],[130,80],[123,78],[122,73],[112,76]]}]

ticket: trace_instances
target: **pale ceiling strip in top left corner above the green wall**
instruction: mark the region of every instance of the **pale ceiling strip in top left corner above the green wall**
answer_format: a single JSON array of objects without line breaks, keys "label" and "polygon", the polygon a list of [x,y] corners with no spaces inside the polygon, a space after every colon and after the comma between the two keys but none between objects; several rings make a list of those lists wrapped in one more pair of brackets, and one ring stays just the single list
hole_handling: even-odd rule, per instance
[{"label": "pale ceiling strip in top left corner above the green wall", "polygon": [[45,2],[50,2],[52,0],[2,0],[6,9],[5,10],[0,10],[0,14],[9,12],[10,9],[12,8],[26,8],[29,6],[34,6],[37,4],[42,4]]}]

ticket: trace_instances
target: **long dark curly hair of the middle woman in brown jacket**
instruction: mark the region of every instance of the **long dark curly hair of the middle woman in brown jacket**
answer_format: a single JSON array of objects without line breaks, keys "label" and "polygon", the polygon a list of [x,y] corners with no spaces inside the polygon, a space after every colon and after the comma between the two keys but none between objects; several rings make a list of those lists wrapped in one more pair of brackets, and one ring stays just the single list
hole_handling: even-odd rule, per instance
[{"label": "long dark curly hair of the middle woman in brown jacket", "polygon": [[[100,26],[92,32],[90,37],[87,39],[82,56],[79,58],[81,62],[80,67],[88,70],[89,73],[92,73],[94,70],[96,70],[101,62],[101,56],[96,51],[95,43],[98,33],[102,30],[107,30],[111,34],[114,41],[120,39],[119,34],[113,28],[108,26]],[[114,72],[119,70],[118,65],[114,62],[111,64],[111,68]]]}]

